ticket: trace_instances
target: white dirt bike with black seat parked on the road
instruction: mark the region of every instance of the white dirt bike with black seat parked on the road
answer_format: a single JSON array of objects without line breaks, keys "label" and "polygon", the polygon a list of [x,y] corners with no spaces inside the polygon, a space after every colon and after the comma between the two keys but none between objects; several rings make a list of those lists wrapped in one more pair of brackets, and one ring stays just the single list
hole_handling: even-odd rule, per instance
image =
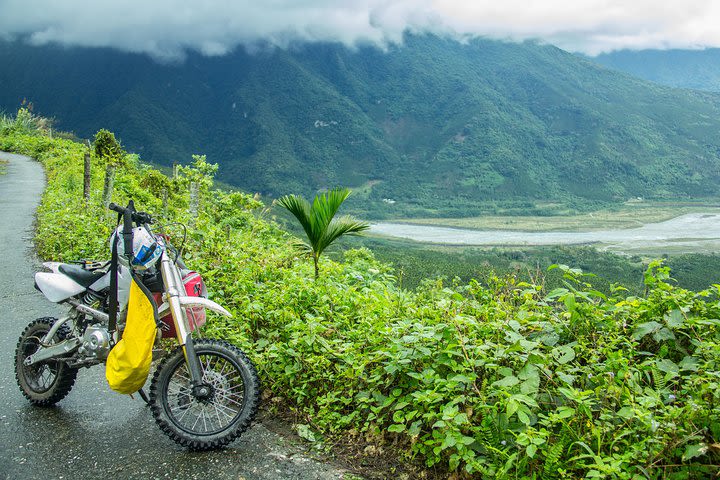
[{"label": "white dirt bike with black seat parked on the road", "polygon": [[[53,405],[70,392],[80,368],[105,363],[122,337],[129,285],[135,278],[159,305],[156,346],[163,337],[175,337],[179,344],[157,366],[149,398],[142,389],[140,395],[160,429],[178,444],[194,450],[222,447],[250,425],[258,407],[259,380],[237,347],[194,339],[192,331],[205,322],[205,309],[230,313],[205,298],[202,279],[185,268],[169,237],[150,230],[150,215],[136,212],[132,201],[127,207],[110,204],[110,209],[123,224],[111,240],[113,260],[49,262],[44,265],[50,272],[35,275],[35,287],[51,302],[68,305],[69,311],[62,318],[38,318],[25,328],[15,352],[18,385],[31,403]],[[149,248],[137,248],[140,234],[148,237]],[[132,253],[122,255],[115,249]]]}]

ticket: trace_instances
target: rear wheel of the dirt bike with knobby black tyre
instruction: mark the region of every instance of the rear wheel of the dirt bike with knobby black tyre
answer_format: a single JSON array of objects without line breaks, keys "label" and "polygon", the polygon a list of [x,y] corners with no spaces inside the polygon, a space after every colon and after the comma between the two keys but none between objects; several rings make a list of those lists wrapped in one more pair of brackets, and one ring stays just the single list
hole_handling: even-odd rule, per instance
[{"label": "rear wheel of the dirt bike with knobby black tyre", "polygon": [[[35,405],[49,406],[62,400],[75,384],[77,369],[62,361],[48,360],[27,366],[24,361],[40,348],[40,342],[57,319],[42,317],[25,327],[15,348],[15,379],[23,395]],[[53,337],[54,342],[66,338],[70,329],[63,325]]]}]

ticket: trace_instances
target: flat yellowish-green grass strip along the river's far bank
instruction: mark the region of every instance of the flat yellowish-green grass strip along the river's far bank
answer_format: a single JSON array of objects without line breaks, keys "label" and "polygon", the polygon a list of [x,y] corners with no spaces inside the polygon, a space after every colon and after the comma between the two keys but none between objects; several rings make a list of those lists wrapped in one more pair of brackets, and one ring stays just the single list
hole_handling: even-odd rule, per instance
[{"label": "flat yellowish-green grass strip along the river's far bank", "polygon": [[394,219],[397,223],[434,225],[480,230],[520,230],[529,232],[577,232],[590,230],[640,227],[648,223],[663,222],[688,213],[718,213],[717,203],[660,203],[627,202],[618,208],[595,212],[552,216],[488,215],[467,218],[413,218]]}]

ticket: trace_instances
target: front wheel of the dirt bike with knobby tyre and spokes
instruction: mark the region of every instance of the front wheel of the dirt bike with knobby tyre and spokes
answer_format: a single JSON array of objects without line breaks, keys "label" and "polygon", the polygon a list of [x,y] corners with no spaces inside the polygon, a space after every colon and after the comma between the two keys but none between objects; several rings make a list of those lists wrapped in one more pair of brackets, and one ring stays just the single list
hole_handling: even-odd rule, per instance
[{"label": "front wheel of the dirt bike with knobby tyre and spokes", "polygon": [[249,426],[257,412],[260,381],[255,367],[234,345],[199,339],[195,353],[209,394],[193,392],[182,347],[163,359],[150,385],[150,405],[160,429],[193,450],[223,447]]}]

